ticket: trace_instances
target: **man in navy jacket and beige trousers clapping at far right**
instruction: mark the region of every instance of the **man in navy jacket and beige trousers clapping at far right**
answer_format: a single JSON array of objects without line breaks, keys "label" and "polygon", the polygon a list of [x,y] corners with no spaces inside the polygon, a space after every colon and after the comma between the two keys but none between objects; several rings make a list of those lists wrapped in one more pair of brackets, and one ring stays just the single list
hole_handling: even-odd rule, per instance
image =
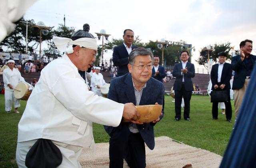
[{"label": "man in navy jacket and beige trousers clapping at far right", "polygon": [[231,68],[235,71],[232,89],[234,90],[235,116],[242,105],[246,88],[250,81],[250,74],[255,64],[256,56],[251,54],[252,40],[244,40],[240,43],[240,55],[234,56]]}]

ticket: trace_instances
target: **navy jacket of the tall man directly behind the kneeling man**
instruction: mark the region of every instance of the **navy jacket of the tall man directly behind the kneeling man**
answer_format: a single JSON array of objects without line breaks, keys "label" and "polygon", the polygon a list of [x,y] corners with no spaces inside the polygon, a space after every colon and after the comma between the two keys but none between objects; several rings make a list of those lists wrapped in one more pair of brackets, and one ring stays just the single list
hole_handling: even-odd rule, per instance
[{"label": "navy jacket of the tall man directly behind the kneeling man", "polygon": [[[137,48],[136,46],[132,45],[132,50],[134,48]],[[117,76],[122,76],[129,72],[128,70],[128,52],[124,46],[124,44],[121,44],[119,46],[116,46],[113,51],[113,63],[114,66],[118,67],[117,70]]]}]

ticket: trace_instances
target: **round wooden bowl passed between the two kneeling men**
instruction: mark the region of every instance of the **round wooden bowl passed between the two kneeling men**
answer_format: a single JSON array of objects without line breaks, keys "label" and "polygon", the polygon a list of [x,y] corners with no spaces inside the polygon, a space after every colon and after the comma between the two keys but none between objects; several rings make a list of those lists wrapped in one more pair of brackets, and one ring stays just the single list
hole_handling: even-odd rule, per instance
[{"label": "round wooden bowl passed between the two kneeling men", "polygon": [[149,123],[158,119],[162,112],[162,105],[143,105],[135,107],[140,113],[140,119],[136,121],[143,123]]}]

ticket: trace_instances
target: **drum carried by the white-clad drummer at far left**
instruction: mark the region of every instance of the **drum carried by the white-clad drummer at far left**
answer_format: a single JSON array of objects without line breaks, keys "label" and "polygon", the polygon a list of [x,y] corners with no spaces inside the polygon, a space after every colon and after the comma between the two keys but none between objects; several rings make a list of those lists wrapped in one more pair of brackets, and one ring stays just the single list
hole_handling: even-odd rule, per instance
[{"label": "drum carried by the white-clad drummer at far left", "polygon": [[28,100],[32,90],[29,88],[34,88],[32,85],[21,82],[14,88],[14,96],[20,100]]}]

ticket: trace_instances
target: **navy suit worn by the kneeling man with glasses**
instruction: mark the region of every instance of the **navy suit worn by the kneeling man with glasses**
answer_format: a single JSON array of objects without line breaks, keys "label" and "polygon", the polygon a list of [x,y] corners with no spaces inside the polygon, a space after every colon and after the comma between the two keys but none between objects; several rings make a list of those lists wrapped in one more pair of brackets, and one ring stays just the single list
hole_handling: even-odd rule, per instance
[{"label": "navy suit worn by the kneeling man with glasses", "polygon": [[[163,96],[164,85],[158,80],[150,78],[146,83],[146,88],[142,91],[140,105],[155,104],[156,102],[162,104]],[[136,104],[134,86],[130,73],[111,80],[108,98],[123,104],[129,102]],[[163,116],[164,111],[162,110],[160,119]],[[144,168],[146,166],[144,142],[148,148],[151,150],[154,149],[155,124],[137,124],[139,133],[135,134],[130,132],[128,124],[130,123],[121,122],[118,127],[104,126],[106,132],[110,135],[109,157],[111,168],[123,167],[124,159],[131,168]],[[134,158],[137,158],[137,160],[134,160]]]}]

